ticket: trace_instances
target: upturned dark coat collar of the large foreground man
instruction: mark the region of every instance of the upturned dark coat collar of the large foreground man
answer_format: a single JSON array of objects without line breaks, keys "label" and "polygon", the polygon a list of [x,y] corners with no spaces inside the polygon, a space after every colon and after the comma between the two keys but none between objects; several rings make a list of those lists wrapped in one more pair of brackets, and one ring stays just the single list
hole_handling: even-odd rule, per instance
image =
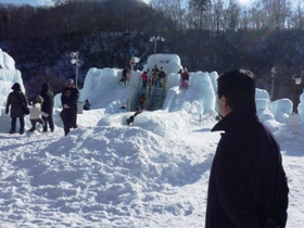
[{"label": "upturned dark coat collar of the large foreground man", "polygon": [[231,129],[236,125],[236,123],[242,121],[251,122],[252,119],[257,119],[255,103],[250,105],[243,105],[238,107],[237,110],[233,110],[231,113],[229,113],[224,118],[221,118],[212,128],[211,131],[217,131],[217,130],[227,131]]}]

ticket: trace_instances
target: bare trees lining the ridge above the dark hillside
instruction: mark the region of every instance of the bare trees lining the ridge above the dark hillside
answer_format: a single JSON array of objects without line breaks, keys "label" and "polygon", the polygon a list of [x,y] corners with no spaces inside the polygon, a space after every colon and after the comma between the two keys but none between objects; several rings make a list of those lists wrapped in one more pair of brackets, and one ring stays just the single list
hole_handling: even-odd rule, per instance
[{"label": "bare trees lining the ridge above the dark hillside", "polygon": [[51,7],[0,4],[1,39],[94,31],[214,33],[303,29],[304,2],[255,0],[53,0]]}]

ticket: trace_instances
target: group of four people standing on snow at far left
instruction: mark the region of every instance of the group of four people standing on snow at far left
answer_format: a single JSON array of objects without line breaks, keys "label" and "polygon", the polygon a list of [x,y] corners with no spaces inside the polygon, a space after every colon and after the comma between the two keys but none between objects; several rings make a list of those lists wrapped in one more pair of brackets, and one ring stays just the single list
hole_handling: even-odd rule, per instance
[{"label": "group of four people standing on snow at far left", "polygon": [[[16,121],[20,121],[20,134],[24,134],[25,127],[25,113],[23,106],[28,106],[28,101],[24,92],[22,91],[21,85],[15,83],[12,86],[12,92],[10,92],[5,113],[11,116],[11,129],[10,134],[16,132]],[[65,136],[69,132],[71,128],[77,128],[77,101],[79,98],[79,90],[74,86],[74,80],[68,79],[66,87],[64,88],[61,96],[62,112],[61,118],[64,126]],[[41,85],[40,93],[35,98],[33,107],[29,113],[29,121],[31,128],[28,131],[34,132],[36,130],[37,123],[41,124],[43,132],[54,131],[53,123],[53,107],[54,107],[54,94],[50,90],[49,83]]]}]

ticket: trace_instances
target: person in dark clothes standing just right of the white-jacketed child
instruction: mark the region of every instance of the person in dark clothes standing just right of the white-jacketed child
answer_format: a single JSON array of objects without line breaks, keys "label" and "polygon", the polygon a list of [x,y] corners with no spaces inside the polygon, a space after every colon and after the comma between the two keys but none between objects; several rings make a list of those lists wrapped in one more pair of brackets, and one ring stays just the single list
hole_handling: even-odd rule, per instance
[{"label": "person in dark clothes standing just right of the white-jacketed child", "polygon": [[43,102],[41,104],[41,111],[48,114],[48,116],[42,116],[42,119],[46,122],[46,125],[43,126],[43,132],[48,131],[48,125],[51,131],[54,131],[54,123],[53,123],[54,94],[50,90],[50,85],[48,83],[41,85],[40,96],[43,99]]}]

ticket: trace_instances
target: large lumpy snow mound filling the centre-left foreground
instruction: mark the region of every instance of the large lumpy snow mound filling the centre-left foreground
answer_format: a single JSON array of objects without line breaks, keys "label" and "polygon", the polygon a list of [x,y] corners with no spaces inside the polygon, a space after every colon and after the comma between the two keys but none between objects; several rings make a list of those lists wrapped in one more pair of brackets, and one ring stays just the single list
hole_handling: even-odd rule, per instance
[{"label": "large lumpy snow mound filling the centre-left foreground", "polygon": [[[27,212],[20,218],[29,218],[39,211],[39,226],[50,225],[52,216],[54,225],[130,227],[138,226],[138,220],[124,221],[122,216],[138,212],[141,216],[190,215],[194,207],[187,200],[155,203],[156,189],[166,192],[168,188],[194,183],[205,172],[204,163],[190,160],[188,153],[194,151],[182,141],[167,140],[137,126],[74,130],[40,151],[28,147],[22,154],[10,156],[7,162],[15,160],[16,173],[7,169],[1,174],[8,186],[1,192],[2,216],[11,216],[9,207],[26,206]],[[17,170],[27,175],[18,175]],[[15,185],[22,185],[26,193],[14,191]],[[81,224],[67,215],[76,216]],[[115,216],[117,221],[113,220]]]}]

